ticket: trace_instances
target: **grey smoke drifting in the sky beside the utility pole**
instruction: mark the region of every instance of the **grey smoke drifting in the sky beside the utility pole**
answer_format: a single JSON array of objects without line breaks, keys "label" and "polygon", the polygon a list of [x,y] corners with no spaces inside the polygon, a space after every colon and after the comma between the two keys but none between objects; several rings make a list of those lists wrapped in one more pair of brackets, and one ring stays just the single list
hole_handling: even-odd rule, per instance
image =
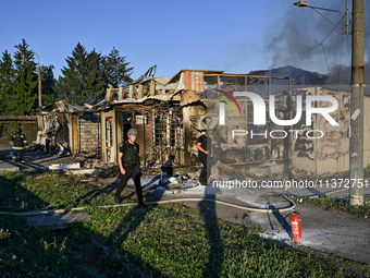
[{"label": "grey smoke drifting in the sky beside the utility pole", "polygon": [[[312,3],[311,3],[312,2]],[[346,1],[311,0],[310,5],[332,10],[346,10]],[[351,11],[351,1],[349,2]],[[320,11],[345,29],[343,13]],[[343,19],[342,19],[343,17]],[[342,20],[342,21],[341,21]],[[349,32],[351,32],[349,17]],[[370,85],[370,17],[369,1],[365,3],[365,83]],[[292,65],[303,70],[330,73],[328,85],[350,84],[351,36],[344,34],[332,23],[309,8],[294,7],[286,12],[281,25],[268,39],[268,53],[271,56],[270,69]]]}]

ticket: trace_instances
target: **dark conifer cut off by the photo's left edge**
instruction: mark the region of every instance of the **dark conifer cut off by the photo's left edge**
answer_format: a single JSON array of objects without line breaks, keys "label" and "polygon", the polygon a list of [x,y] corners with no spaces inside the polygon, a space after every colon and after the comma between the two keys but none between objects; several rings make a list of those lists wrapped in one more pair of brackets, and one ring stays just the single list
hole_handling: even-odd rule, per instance
[{"label": "dark conifer cut off by the photo's left edge", "polygon": [[9,98],[13,90],[14,68],[11,55],[5,50],[0,60],[0,114],[9,114]]}]

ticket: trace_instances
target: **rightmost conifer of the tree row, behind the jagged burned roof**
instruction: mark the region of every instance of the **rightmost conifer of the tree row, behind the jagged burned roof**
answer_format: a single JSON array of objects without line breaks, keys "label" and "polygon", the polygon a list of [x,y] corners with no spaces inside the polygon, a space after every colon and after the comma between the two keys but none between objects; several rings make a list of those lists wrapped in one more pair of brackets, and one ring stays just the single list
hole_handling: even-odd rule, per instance
[{"label": "rightmost conifer of the tree row, behind the jagged burned roof", "polygon": [[104,78],[106,83],[111,84],[118,88],[120,86],[126,86],[133,80],[131,74],[134,68],[128,68],[130,62],[126,62],[126,57],[120,56],[120,51],[114,47],[111,52],[103,58]]}]

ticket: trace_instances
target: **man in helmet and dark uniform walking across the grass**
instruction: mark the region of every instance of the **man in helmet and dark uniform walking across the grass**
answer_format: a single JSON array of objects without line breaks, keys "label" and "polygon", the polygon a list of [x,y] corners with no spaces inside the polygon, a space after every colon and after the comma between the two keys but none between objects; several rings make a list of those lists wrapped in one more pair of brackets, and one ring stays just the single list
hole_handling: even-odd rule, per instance
[{"label": "man in helmet and dark uniform walking across the grass", "polygon": [[121,184],[115,190],[114,202],[121,203],[120,195],[121,192],[126,188],[130,178],[133,178],[136,195],[138,200],[138,205],[140,207],[146,207],[143,201],[143,189],[140,183],[140,160],[139,160],[139,145],[135,142],[137,136],[137,130],[130,129],[127,132],[128,140],[125,141],[119,153],[119,165],[120,165],[120,179]]}]

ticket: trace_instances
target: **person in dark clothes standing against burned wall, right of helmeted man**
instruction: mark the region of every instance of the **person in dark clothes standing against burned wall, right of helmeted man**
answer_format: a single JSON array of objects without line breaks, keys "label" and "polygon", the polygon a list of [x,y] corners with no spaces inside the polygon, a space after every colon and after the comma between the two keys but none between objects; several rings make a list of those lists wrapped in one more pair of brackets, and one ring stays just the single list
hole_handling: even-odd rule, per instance
[{"label": "person in dark clothes standing against burned wall, right of helmeted man", "polygon": [[198,157],[203,165],[199,176],[199,183],[202,185],[208,184],[208,179],[211,174],[211,158],[213,157],[212,135],[213,130],[207,130],[206,135],[201,135],[197,142]]}]

